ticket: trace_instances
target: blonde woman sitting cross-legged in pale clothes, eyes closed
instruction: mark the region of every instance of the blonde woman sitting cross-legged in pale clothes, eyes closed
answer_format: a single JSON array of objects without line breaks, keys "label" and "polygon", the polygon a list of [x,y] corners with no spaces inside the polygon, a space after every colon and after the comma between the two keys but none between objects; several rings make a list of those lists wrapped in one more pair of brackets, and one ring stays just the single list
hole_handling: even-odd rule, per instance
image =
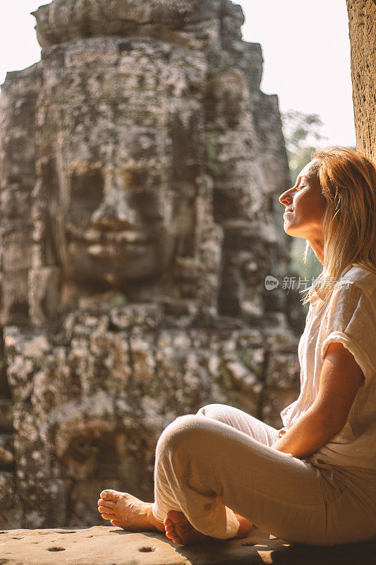
[{"label": "blonde woman sitting cross-legged in pale clothes, eyes closed", "polygon": [[102,517],[176,543],[245,537],[253,523],[289,542],[376,534],[376,167],[355,150],[317,151],[281,194],[284,230],[323,272],[308,289],[301,394],[274,429],[209,405],[159,439],[155,502],[106,490]]}]

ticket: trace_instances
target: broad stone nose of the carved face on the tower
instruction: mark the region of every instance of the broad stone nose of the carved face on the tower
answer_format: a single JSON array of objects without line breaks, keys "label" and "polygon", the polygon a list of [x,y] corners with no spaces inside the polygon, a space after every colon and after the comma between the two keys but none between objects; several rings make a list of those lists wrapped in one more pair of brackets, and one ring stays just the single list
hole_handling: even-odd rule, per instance
[{"label": "broad stone nose of the carved face on the tower", "polygon": [[138,219],[126,198],[114,198],[110,195],[92,213],[91,223],[93,227],[102,230],[129,230],[137,225]]}]

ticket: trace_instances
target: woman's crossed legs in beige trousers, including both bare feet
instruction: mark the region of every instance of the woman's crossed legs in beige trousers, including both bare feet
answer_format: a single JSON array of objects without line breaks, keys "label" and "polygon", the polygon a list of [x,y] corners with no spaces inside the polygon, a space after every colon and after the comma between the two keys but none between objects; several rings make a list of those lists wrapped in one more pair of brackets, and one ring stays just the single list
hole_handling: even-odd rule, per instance
[{"label": "woman's crossed legs in beige trousers, including both bare feet", "polygon": [[[99,512],[127,530],[165,529],[176,542],[186,541],[186,530],[217,539],[247,535],[255,523],[284,539],[321,543],[325,504],[317,471],[272,449],[276,438],[274,428],[223,405],[179,417],[157,444],[154,504],[104,491]],[[241,529],[246,524],[248,531]]]}]

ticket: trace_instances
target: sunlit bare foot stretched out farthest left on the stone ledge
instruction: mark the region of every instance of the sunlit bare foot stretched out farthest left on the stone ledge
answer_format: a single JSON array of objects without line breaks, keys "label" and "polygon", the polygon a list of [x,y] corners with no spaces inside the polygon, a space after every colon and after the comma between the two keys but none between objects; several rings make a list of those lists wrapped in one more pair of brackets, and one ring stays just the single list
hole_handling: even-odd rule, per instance
[{"label": "sunlit bare foot stretched out farthest left on the stone ledge", "polygon": [[104,520],[130,532],[164,532],[163,523],[154,518],[152,504],[142,502],[127,492],[102,491],[98,511]]}]

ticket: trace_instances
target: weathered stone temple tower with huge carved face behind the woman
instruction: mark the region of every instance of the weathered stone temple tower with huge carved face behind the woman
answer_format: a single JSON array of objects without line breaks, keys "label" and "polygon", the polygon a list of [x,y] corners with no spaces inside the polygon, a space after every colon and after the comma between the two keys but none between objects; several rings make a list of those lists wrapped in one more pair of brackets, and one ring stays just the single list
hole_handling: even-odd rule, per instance
[{"label": "weathered stone temple tower with huge carved face behind the woman", "polygon": [[0,528],[152,499],[175,417],[299,388],[277,96],[230,0],[54,0],[1,88]]}]

